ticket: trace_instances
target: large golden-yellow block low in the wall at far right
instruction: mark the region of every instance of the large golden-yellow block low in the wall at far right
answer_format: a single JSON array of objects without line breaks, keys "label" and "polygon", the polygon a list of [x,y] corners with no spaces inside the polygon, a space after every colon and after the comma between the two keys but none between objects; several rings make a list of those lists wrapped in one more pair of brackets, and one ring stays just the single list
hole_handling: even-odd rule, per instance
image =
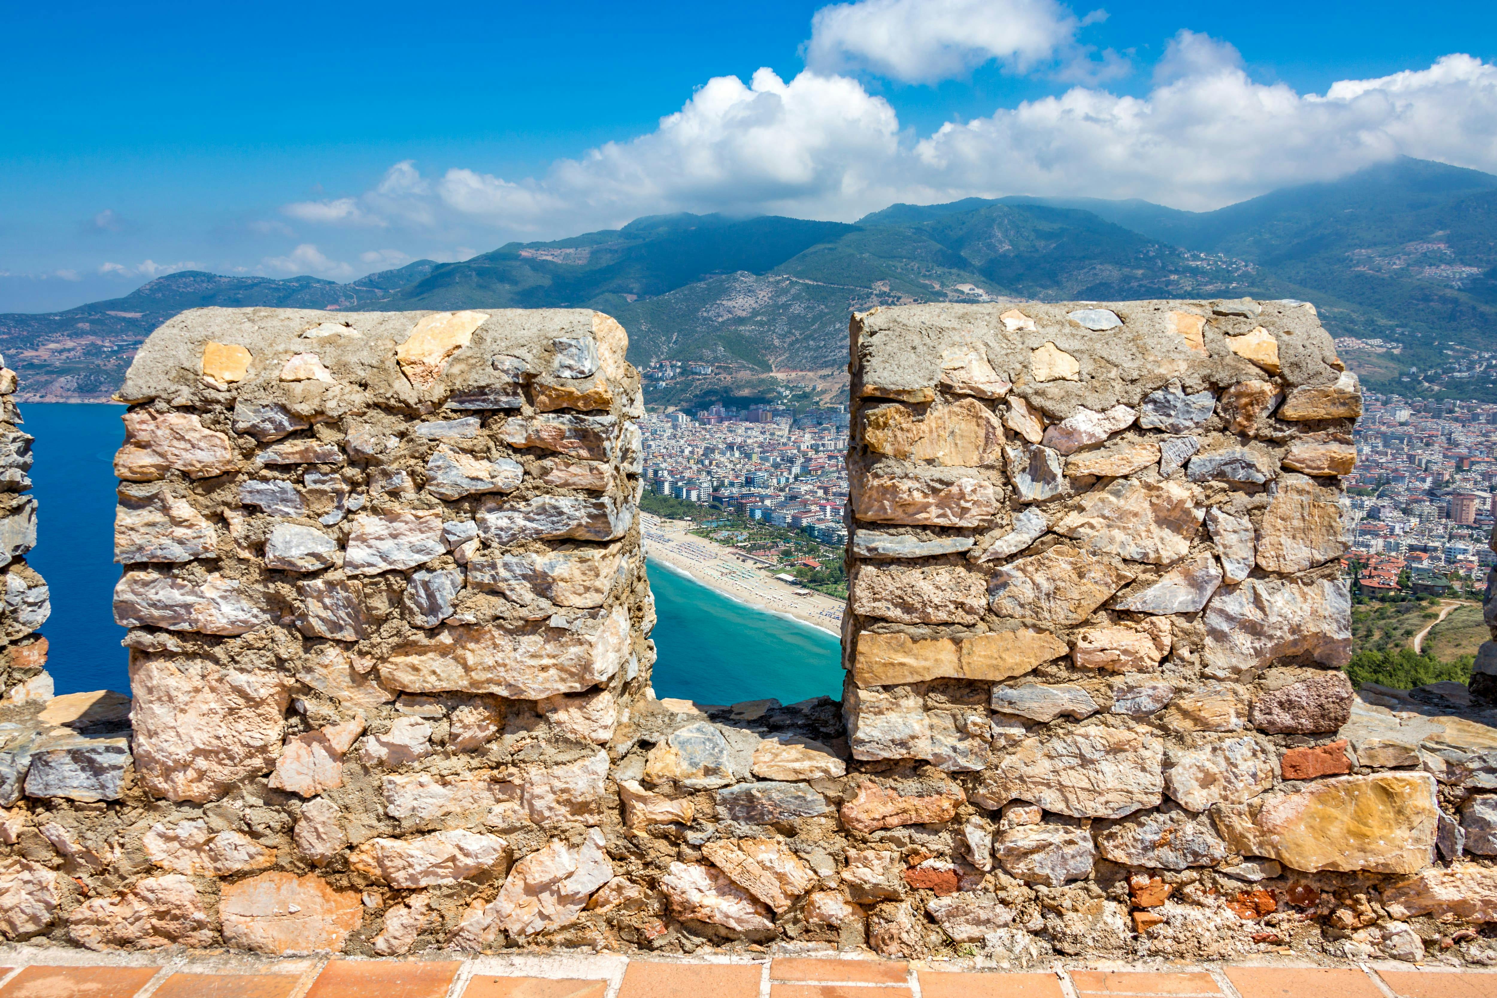
[{"label": "large golden-yellow block low in the wall at far right", "polygon": [[1415,874],[1434,857],[1440,808],[1424,772],[1332,777],[1214,811],[1231,850],[1305,872]]}]

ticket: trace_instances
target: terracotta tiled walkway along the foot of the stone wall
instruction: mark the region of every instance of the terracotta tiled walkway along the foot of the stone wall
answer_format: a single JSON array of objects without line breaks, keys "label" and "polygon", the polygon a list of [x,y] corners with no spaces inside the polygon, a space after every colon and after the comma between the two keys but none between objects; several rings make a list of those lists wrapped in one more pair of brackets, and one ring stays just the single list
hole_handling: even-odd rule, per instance
[{"label": "terracotta tiled walkway along the foot of the stone wall", "polygon": [[[1497,998],[1497,971],[1229,965],[1169,971],[954,971],[873,959],[759,962],[494,956],[129,965],[36,952],[0,970],[0,998]],[[10,962],[15,953],[9,956]],[[69,961],[70,964],[64,964]]]}]

